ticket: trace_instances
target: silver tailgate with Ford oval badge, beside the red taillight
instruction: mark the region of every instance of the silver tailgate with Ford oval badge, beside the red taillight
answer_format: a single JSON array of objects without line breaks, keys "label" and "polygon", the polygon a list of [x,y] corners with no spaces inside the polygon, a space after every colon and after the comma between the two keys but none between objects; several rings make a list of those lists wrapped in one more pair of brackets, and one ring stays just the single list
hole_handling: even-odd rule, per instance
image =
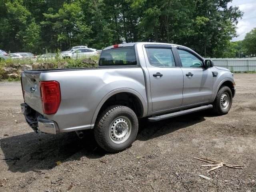
[{"label": "silver tailgate with Ford oval badge, beside the red taillight", "polygon": [[39,85],[40,74],[40,72],[36,74],[22,72],[21,80],[24,102],[32,109],[43,114]]}]

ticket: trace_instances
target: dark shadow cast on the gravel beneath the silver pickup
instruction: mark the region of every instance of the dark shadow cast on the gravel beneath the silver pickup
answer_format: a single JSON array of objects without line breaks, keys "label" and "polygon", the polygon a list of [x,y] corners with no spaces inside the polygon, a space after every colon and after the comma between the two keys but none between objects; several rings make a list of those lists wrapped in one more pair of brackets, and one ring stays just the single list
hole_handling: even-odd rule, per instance
[{"label": "dark shadow cast on the gravel beneath the silver pickup", "polygon": [[[198,112],[159,122],[140,121],[137,140],[146,141],[204,121],[205,112]],[[80,160],[82,157],[102,158],[107,154],[98,147],[91,131],[79,139],[74,132],[65,134],[27,134],[0,140],[3,155],[11,172],[41,172],[55,167],[55,163]]]}]

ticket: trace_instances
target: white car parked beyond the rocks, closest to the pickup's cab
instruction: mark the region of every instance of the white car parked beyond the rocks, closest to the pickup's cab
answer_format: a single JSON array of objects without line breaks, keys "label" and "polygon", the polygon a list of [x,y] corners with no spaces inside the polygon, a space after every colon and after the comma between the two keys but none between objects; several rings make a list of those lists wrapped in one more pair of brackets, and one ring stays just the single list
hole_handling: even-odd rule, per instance
[{"label": "white car parked beyond the rocks, closest to the pickup's cab", "polygon": [[72,52],[66,52],[60,54],[60,58],[85,58],[88,56],[98,55],[99,52],[92,48],[80,48]]}]

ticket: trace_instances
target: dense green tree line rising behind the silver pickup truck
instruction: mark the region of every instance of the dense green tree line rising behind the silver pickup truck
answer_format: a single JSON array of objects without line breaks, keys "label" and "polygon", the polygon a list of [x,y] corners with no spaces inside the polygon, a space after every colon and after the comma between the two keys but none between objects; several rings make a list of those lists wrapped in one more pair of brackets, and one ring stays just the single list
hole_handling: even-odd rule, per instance
[{"label": "dense green tree line rising behind the silver pickup truck", "polygon": [[204,56],[228,55],[242,12],[232,0],[0,0],[0,48],[11,52],[102,49],[166,42]]}]

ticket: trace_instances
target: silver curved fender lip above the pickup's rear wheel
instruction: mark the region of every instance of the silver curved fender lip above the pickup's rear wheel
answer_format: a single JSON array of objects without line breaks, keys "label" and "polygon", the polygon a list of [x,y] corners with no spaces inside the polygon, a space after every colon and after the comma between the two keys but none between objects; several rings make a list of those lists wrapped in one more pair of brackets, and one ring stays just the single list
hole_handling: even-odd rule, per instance
[{"label": "silver curved fender lip above the pickup's rear wheel", "polygon": [[142,108],[143,108],[143,114],[142,116],[146,116],[147,112],[148,112],[148,106],[146,105],[145,100],[143,99],[143,97],[135,90],[130,89],[130,88],[120,88],[120,89],[116,89],[110,93],[108,93],[98,104],[96,110],[94,111],[93,117],[92,117],[92,122],[91,122],[91,129],[94,128],[94,124],[95,121],[97,119],[98,113],[100,112],[100,108],[103,106],[103,104],[106,102],[106,100],[108,100],[111,96],[118,94],[118,93],[122,93],[122,92],[126,92],[126,93],[130,93],[133,94],[134,96],[136,96],[139,100],[140,103],[142,104]]}]

